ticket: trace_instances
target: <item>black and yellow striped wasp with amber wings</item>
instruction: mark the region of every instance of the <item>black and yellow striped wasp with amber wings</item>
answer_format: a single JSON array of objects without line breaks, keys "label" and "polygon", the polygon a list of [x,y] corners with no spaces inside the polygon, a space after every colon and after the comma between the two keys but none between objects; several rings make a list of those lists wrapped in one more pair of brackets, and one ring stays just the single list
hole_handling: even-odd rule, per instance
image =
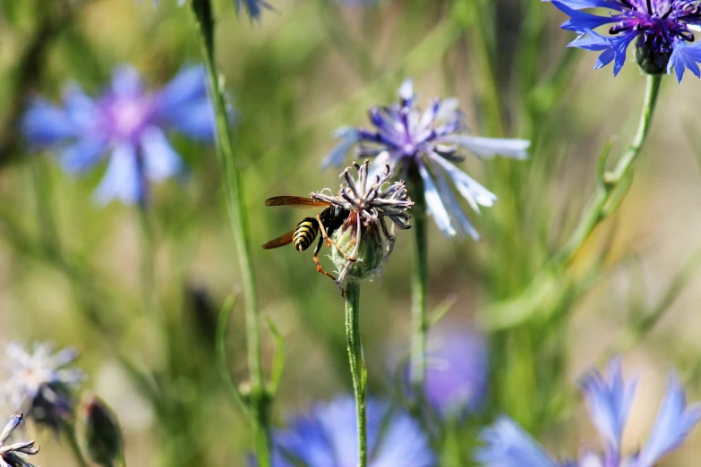
[{"label": "black and yellow striped wasp with amber wings", "polygon": [[[331,240],[330,237],[350,216],[350,211],[345,208],[332,205],[329,202],[312,200],[311,198],[301,198],[298,196],[276,196],[265,200],[265,205],[291,206],[293,208],[323,208],[321,212],[317,213],[316,217],[304,217],[300,223],[297,224],[295,230],[280,235],[278,238],[265,243],[263,245],[263,249],[272,250],[274,248],[279,248],[292,243],[295,245],[295,250],[297,251],[307,250],[321,231],[319,242],[314,250],[314,263],[316,264],[316,270],[318,272],[321,272],[321,274],[324,276],[330,277],[335,281],[336,277],[331,276],[324,270],[323,267],[321,267],[321,262],[319,261],[319,251],[324,245],[324,242],[326,242],[328,247],[331,245],[336,246],[338,251],[343,253],[343,255],[348,258],[346,253],[344,253],[343,250],[338,247],[338,244]],[[350,258],[348,259],[353,260]]]}]

